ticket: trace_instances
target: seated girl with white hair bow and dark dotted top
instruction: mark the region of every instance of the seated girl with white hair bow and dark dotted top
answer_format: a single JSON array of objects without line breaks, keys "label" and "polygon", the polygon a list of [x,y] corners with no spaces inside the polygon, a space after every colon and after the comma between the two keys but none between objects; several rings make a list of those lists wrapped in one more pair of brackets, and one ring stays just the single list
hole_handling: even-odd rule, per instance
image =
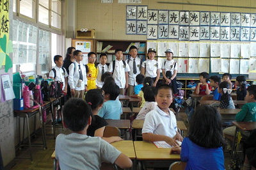
[{"label": "seated girl with white hair bow and dark dotted top", "polygon": [[221,94],[220,108],[221,109],[236,109],[234,102],[231,98],[232,89],[229,88],[228,82],[221,82],[218,88],[218,92]]}]

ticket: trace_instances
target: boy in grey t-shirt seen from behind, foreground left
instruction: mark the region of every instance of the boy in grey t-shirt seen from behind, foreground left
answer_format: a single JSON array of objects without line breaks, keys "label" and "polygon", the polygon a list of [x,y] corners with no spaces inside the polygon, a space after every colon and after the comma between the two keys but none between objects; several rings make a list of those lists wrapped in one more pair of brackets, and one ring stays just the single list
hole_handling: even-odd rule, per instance
[{"label": "boy in grey t-shirt seen from behind, foreground left", "polygon": [[100,137],[86,135],[92,110],[81,98],[71,98],[63,107],[63,123],[72,134],[59,134],[55,154],[60,169],[100,169],[102,162],[121,168],[132,166],[131,159]]}]

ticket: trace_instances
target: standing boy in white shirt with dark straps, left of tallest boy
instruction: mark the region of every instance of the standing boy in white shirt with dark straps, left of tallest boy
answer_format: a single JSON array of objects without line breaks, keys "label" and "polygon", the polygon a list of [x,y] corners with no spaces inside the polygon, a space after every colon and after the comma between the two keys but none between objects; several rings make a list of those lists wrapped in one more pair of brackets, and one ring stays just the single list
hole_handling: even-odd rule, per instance
[{"label": "standing boy in white shirt with dark straps, left of tallest boy", "polygon": [[122,60],[123,52],[120,49],[115,50],[116,60],[109,65],[108,72],[112,73],[116,84],[120,88],[120,95],[124,95],[125,89],[128,88],[128,72],[130,72],[129,65]]}]

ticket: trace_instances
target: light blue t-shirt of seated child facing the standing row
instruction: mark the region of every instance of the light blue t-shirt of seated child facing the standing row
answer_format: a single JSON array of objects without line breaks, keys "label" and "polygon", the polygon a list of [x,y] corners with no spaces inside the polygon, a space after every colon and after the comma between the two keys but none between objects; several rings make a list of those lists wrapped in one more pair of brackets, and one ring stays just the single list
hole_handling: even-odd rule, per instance
[{"label": "light blue t-shirt of seated child facing the standing row", "polygon": [[122,104],[119,100],[108,100],[104,102],[98,116],[105,120],[120,120],[122,112]]}]

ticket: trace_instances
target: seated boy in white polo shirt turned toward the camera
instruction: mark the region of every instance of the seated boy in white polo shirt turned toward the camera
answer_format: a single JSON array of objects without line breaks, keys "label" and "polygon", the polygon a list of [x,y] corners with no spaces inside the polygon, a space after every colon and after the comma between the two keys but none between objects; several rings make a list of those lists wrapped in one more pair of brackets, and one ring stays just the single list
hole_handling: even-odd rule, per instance
[{"label": "seated boy in white polo shirt turned toward the camera", "polygon": [[178,132],[175,115],[169,106],[173,101],[173,91],[170,86],[163,84],[155,91],[157,107],[148,112],[142,128],[142,138],[145,141],[165,141],[171,146],[178,145],[183,138]]}]

